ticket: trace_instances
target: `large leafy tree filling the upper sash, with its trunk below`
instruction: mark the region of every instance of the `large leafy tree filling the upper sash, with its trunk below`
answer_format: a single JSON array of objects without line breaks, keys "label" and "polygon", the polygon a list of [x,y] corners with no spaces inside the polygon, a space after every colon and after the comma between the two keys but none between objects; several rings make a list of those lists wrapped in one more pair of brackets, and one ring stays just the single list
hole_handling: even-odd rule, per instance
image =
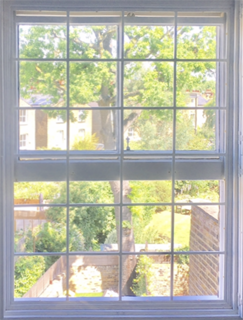
[{"label": "large leafy tree filling the upper sash, with its trunk below", "polygon": [[[215,27],[199,27],[202,32],[193,27],[178,29],[178,57],[200,59],[215,57]],[[59,58],[65,57],[66,29],[64,26],[32,26],[20,29],[20,57],[21,58]],[[116,57],[117,29],[115,26],[71,26],[70,27],[70,58],[93,59],[99,58],[104,62],[70,62],[70,92],[69,105],[79,107],[96,102],[99,107],[115,106],[116,92],[116,62],[109,61]],[[162,26],[126,26],[125,27],[126,58],[173,58],[173,27]],[[206,48],[206,49],[205,49]],[[214,62],[180,62],[177,64],[177,98],[178,106],[186,106],[188,90],[204,92],[212,89],[215,92]],[[173,106],[173,72],[171,62],[125,62],[124,68],[124,106],[150,107],[149,111],[141,109],[124,112],[124,132],[134,127],[139,130],[141,141],[133,144],[140,150],[168,150],[172,147],[173,115],[170,110],[156,110],[153,107]],[[66,105],[66,66],[63,62],[27,62],[20,63],[20,91],[21,97],[35,100],[39,94],[49,97],[47,106]],[[212,88],[211,86],[214,85]],[[56,117],[60,111],[47,111],[50,116]],[[100,112],[101,129],[98,132],[99,142],[105,150],[116,148],[116,126],[114,111],[108,109]],[[70,113],[71,120],[74,118]],[[64,118],[65,119],[65,118]],[[156,126],[151,124],[157,119]],[[177,119],[177,148],[182,150],[190,147],[185,136],[190,137],[193,127],[187,114],[178,112]],[[185,128],[185,121],[189,129]],[[153,127],[153,130],[152,130]],[[181,133],[180,133],[181,130]],[[183,130],[186,134],[183,134]],[[150,134],[148,134],[148,132]],[[165,136],[161,144],[161,136]],[[158,136],[158,138],[156,138]],[[190,139],[189,139],[190,140]],[[197,142],[198,143],[198,142]],[[205,147],[205,146],[204,146]],[[207,146],[206,146],[207,147]],[[205,147],[205,148],[206,148]],[[191,145],[192,149],[195,149]],[[92,149],[92,148],[91,148]],[[120,200],[120,183],[110,181],[115,202]],[[123,220],[126,222],[123,229],[122,247],[125,251],[134,250],[134,234],[131,210],[129,209],[130,185],[123,182]],[[91,209],[90,209],[91,210]],[[92,210],[91,210],[92,211]],[[79,225],[76,213],[71,211],[73,221]],[[117,237],[119,232],[119,208],[115,209]],[[101,213],[102,216],[102,213]],[[103,217],[103,216],[102,216]],[[91,228],[91,225],[89,224]],[[126,260],[126,259],[125,259]],[[135,258],[124,260],[127,270],[135,266]],[[129,262],[128,262],[129,260]],[[128,266],[128,263],[131,265]],[[127,279],[123,281],[124,294],[129,294]]]}]

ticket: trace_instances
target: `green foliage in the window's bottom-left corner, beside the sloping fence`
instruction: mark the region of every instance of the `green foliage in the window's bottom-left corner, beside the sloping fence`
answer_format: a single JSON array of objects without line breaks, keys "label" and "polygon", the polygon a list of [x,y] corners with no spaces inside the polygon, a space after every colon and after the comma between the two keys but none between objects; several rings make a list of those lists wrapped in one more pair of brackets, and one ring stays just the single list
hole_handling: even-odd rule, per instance
[{"label": "green foliage in the window's bottom-left corner, beside the sloping fence", "polygon": [[20,257],[15,263],[14,297],[21,298],[37,282],[45,271],[45,259],[41,256]]}]

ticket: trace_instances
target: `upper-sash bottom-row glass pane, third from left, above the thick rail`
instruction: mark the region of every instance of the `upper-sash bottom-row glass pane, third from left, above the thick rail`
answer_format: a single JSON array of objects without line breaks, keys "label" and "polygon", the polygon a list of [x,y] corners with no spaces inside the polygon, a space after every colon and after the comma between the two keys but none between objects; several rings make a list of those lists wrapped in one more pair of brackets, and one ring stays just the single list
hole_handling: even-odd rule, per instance
[{"label": "upper-sash bottom-row glass pane, third from left, above the thick rail", "polygon": [[125,110],[124,149],[172,150],[172,110]]}]

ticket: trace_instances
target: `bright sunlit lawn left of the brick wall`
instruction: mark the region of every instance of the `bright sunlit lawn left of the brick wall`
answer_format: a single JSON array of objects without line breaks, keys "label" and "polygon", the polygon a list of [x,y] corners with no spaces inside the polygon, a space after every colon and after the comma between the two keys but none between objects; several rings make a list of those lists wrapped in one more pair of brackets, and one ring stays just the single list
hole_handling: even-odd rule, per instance
[{"label": "bright sunlit lawn left of the brick wall", "polygon": [[[159,235],[171,237],[171,212],[163,211],[153,216],[145,232],[151,234],[151,238],[156,239]],[[191,229],[191,216],[175,213],[175,244],[182,247],[189,246]],[[156,242],[155,242],[156,243]]]}]

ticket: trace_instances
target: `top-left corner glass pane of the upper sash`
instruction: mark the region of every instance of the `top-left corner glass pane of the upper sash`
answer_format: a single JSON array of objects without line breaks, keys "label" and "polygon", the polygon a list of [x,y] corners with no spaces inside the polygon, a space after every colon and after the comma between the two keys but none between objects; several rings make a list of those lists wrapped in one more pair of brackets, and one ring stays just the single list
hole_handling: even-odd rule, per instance
[{"label": "top-left corner glass pane of the upper sash", "polygon": [[66,38],[65,25],[20,25],[19,57],[66,58]]}]

